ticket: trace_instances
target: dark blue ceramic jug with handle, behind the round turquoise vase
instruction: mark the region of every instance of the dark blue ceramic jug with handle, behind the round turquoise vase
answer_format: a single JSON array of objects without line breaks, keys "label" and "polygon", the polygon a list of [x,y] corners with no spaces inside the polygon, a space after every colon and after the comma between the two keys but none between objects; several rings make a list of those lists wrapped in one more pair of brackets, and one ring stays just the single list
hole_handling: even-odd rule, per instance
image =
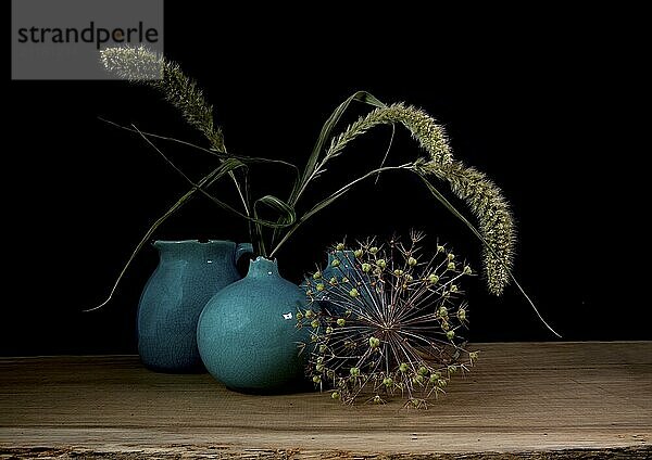
[{"label": "dark blue ceramic jug with handle, behind the round turquoise vase", "polygon": [[206,302],[240,279],[238,258],[251,244],[210,240],[155,241],[160,261],[138,305],[138,353],[163,372],[203,371],[197,321]]}]

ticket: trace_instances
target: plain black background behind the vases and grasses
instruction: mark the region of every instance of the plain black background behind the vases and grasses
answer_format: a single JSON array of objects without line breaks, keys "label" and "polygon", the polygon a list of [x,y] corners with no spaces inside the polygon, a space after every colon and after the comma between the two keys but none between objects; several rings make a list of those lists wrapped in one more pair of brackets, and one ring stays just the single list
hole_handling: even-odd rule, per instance
[{"label": "plain black background behind the vases and grasses", "polygon": [[[378,17],[293,11],[293,20],[251,10],[166,2],[166,54],[204,88],[230,152],[302,167],[326,117],[355,90],[421,106],[446,126],[455,156],[487,173],[511,201],[519,230],[515,273],[564,340],[652,337],[641,166],[650,143],[638,140],[647,58],[635,13],[493,11],[498,18],[479,12],[471,20],[405,8]],[[98,117],[202,139],[149,88],[9,77],[5,85],[0,353],[133,353],[138,297],[156,265],[152,247],[108,307],[82,310],[103,299],[140,237],[186,184],[142,140]],[[353,143],[305,203],[376,165],[388,137],[378,129]],[[211,166],[191,149],[161,148],[195,178]],[[390,161],[419,153],[399,129]],[[290,177],[281,168],[254,173],[260,192],[279,196]],[[344,235],[389,237],[413,227],[479,268],[480,246],[468,230],[414,178],[392,175],[305,225],[278,255],[281,273],[298,281]],[[156,238],[248,240],[241,221],[203,199]],[[494,298],[475,279],[466,290],[472,340],[554,340],[515,289]]]}]

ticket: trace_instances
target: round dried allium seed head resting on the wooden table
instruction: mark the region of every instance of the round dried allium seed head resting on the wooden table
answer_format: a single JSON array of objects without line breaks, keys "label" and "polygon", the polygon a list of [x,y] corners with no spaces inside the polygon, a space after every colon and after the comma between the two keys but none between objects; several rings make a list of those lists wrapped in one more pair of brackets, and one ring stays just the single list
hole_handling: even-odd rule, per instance
[{"label": "round dried allium seed head resting on the wooden table", "polygon": [[346,263],[341,258],[341,280],[314,301],[319,303],[314,318],[306,310],[298,319],[313,327],[309,375],[316,372],[316,384],[331,386],[334,398],[353,404],[360,397],[383,403],[403,397],[425,408],[456,369],[468,370],[476,359],[462,348],[467,306],[460,281],[469,268],[455,264],[460,257],[440,250],[443,245],[426,257],[416,246],[422,239],[361,243],[364,251]]}]

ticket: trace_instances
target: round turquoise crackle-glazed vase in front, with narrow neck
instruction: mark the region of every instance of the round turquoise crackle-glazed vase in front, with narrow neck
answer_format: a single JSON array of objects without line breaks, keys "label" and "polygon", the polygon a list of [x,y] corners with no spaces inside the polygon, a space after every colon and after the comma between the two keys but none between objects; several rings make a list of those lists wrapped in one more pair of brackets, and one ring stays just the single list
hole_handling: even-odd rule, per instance
[{"label": "round turquoise crackle-glazed vase in front, with narrow neck", "polygon": [[258,257],[249,272],[220,291],[199,318],[197,344],[209,372],[241,393],[290,393],[308,388],[305,353],[310,333],[297,329],[303,290],[278,274],[276,260]]}]

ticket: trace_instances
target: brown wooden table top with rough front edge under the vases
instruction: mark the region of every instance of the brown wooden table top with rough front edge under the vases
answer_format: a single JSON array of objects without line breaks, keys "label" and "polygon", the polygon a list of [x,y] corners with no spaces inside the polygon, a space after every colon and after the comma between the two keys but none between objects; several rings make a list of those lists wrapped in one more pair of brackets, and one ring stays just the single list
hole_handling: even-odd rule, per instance
[{"label": "brown wooden table top with rough front edge under the vases", "polygon": [[652,342],[475,348],[427,410],[241,395],[136,356],[0,358],[0,459],[652,458]]}]

